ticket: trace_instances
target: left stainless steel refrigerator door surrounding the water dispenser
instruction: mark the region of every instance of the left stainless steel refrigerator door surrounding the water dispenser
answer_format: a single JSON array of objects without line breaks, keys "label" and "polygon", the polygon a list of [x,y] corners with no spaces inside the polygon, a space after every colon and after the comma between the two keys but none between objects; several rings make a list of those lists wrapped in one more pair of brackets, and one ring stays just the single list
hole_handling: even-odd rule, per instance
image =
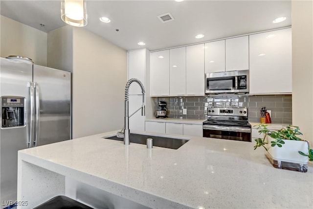
[{"label": "left stainless steel refrigerator door surrounding the water dispenser", "polygon": [[[2,128],[2,103],[0,118],[0,203],[16,201],[18,150],[28,147],[30,100],[28,87],[32,81],[31,64],[0,58],[0,96],[25,98],[25,126]],[[2,202],[3,201],[3,202]],[[4,202],[7,201],[7,202]],[[1,208],[5,206],[1,205]]]}]

